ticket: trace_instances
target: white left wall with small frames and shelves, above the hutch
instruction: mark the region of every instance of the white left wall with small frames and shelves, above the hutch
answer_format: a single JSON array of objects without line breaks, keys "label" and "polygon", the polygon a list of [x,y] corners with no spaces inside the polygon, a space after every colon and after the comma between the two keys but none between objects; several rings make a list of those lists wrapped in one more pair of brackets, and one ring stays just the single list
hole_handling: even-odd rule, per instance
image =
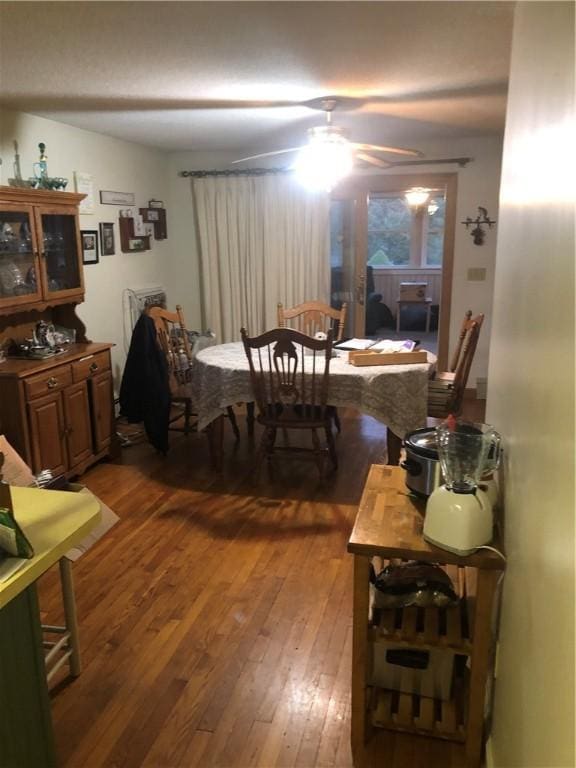
[{"label": "white left wall with small frames and shelves, above the hutch", "polygon": [[[38,160],[38,143],[46,144],[48,173],[69,179],[67,191],[74,191],[74,171],[92,174],[96,206],[93,215],[80,217],[81,229],[98,229],[101,221],[114,222],[116,254],[100,256],[99,264],[84,267],[86,300],[77,309],[86,325],[89,339],[111,341],[115,385],[124,365],[128,339],[124,336],[123,290],[166,282],[172,235],[171,212],[167,205],[167,159],[162,152],[101,134],[45,120],[21,112],[3,112],[0,124],[0,181],[13,176],[14,148],[18,141],[22,176],[32,176]],[[101,205],[98,192],[108,189],[135,192],[136,206],[160,199],[167,205],[168,239],[151,240],[152,249],[142,253],[122,253],[118,228],[119,206]]]}]

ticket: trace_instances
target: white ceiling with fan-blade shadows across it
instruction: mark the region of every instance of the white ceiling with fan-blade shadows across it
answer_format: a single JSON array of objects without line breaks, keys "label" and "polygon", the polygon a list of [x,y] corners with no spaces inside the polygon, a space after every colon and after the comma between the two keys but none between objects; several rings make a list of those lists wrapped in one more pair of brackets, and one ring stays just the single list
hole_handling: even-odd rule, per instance
[{"label": "white ceiling with fan-blade shadows across it", "polygon": [[512,14],[507,2],[2,1],[0,97],[167,151],[299,145],[323,122],[230,100],[362,97],[335,115],[353,140],[417,147],[502,131]]}]

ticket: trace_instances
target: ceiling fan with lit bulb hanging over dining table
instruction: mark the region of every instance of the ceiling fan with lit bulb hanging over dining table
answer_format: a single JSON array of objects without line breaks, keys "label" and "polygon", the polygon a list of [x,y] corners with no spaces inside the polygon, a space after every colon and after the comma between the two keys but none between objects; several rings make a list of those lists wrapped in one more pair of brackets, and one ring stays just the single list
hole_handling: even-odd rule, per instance
[{"label": "ceiling fan with lit bulb hanging over dining table", "polygon": [[318,108],[326,114],[326,123],[322,126],[308,129],[308,143],[299,147],[288,147],[278,149],[273,152],[260,152],[256,155],[242,157],[234,160],[233,165],[237,163],[256,160],[261,157],[272,157],[291,152],[298,152],[292,168],[297,175],[306,184],[306,186],[330,190],[340,179],[346,176],[352,170],[355,163],[376,166],[383,170],[398,165],[423,165],[430,163],[451,163],[458,162],[465,165],[470,158],[450,158],[444,160],[389,160],[383,157],[375,156],[373,153],[383,153],[388,155],[399,155],[402,158],[423,158],[422,152],[416,149],[407,149],[404,147],[390,147],[381,144],[363,144],[350,141],[343,128],[340,128],[332,122],[332,112],[340,102],[336,98],[322,99],[308,102],[306,106]]}]

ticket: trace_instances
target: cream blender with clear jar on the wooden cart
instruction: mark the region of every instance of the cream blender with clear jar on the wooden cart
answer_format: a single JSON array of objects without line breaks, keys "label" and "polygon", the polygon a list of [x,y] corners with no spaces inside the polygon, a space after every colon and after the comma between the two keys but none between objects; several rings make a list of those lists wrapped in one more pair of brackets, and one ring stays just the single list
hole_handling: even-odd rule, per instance
[{"label": "cream blender with clear jar on the wooden cart", "polygon": [[492,540],[492,502],[479,488],[500,458],[500,435],[489,424],[448,419],[436,429],[445,484],[428,498],[426,541],[457,555],[469,555]]}]

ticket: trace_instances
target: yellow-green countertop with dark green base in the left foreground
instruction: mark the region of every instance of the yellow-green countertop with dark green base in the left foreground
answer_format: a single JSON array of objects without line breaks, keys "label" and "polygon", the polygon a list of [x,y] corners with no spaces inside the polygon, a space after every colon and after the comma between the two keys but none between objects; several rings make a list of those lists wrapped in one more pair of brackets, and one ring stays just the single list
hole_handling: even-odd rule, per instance
[{"label": "yellow-green countertop with dark green base in the left foreground", "polygon": [[67,491],[11,488],[35,556],[0,582],[0,766],[56,765],[36,580],[94,528],[98,502]]}]

